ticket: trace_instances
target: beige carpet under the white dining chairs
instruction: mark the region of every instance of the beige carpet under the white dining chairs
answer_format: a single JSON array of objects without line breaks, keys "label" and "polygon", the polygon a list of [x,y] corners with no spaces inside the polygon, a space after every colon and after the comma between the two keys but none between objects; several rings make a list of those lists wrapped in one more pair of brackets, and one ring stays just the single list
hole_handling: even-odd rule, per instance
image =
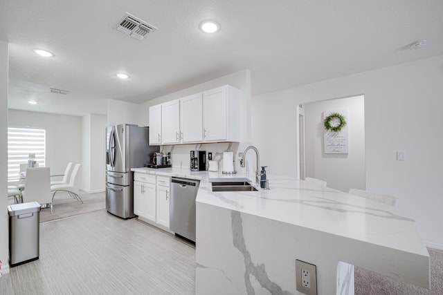
[{"label": "beige carpet under the white dining chairs", "polygon": [[75,200],[66,192],[58,192],[53,200],[53,214],[51,208],[42,208],[40,211],[40,222],[48,222],[61,218],[76,216],[92,211],[106,209],[105,192],[82,193],[80,198],[83,203]]}]

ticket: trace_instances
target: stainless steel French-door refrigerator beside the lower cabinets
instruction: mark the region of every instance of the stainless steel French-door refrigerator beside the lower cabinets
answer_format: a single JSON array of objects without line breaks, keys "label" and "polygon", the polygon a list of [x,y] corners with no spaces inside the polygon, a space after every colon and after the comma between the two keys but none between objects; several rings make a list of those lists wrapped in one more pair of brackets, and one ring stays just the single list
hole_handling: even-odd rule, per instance
[{"label": "stainless steel French-door refrigerator beside the lower cabinets", "polygon": [[159,146],[149,145],[149,127],[131,124],[106,129],[106,209],[121,218],[133,218],[134,173],[132,168],[150,162]]}]

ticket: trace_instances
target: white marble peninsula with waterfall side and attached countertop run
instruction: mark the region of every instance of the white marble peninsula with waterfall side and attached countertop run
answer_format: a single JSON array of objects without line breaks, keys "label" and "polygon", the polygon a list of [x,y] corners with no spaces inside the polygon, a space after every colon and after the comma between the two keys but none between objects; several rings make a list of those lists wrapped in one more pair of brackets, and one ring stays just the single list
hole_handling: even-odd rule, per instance
[{"label": "white marble peninsula with waterfall side and attached countertop run", "polygon": [[429,255],[408,211],[302,180],[269,191],[213,192],[221,175],[133,169],[201,180],[196,294],[299,294],[295,261],[316,265],[318,294],[354,294],[354,267],[429,288]]}]

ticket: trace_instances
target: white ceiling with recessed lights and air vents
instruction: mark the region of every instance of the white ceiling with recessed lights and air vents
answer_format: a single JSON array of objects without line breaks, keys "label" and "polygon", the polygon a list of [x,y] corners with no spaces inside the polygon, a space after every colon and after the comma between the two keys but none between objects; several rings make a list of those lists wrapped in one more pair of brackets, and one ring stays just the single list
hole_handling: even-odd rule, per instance
[{"label": "white ceiling with recessed lights and air vents", "polygon": [[[116,30],[125,12],[159,30],[127,37]],[[442,15],[442,0],[0,0],[8,105],[106,113],[108,98],[145,102],[245,68],[253,95],[266,93],[443,55]],[[221,30],[201,32],[204,19]],[[426,48],[408,50],[419,39]]]}]

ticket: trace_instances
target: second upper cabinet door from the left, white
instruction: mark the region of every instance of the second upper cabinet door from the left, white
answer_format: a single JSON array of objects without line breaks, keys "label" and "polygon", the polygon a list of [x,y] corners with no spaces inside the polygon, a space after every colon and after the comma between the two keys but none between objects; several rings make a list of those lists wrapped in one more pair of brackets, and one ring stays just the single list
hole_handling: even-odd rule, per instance
[{"label": "second upper cabinet door from the left, white", "polygon": [[161,132],[163,144],[180,142],[180,100],[161,105]]}]

